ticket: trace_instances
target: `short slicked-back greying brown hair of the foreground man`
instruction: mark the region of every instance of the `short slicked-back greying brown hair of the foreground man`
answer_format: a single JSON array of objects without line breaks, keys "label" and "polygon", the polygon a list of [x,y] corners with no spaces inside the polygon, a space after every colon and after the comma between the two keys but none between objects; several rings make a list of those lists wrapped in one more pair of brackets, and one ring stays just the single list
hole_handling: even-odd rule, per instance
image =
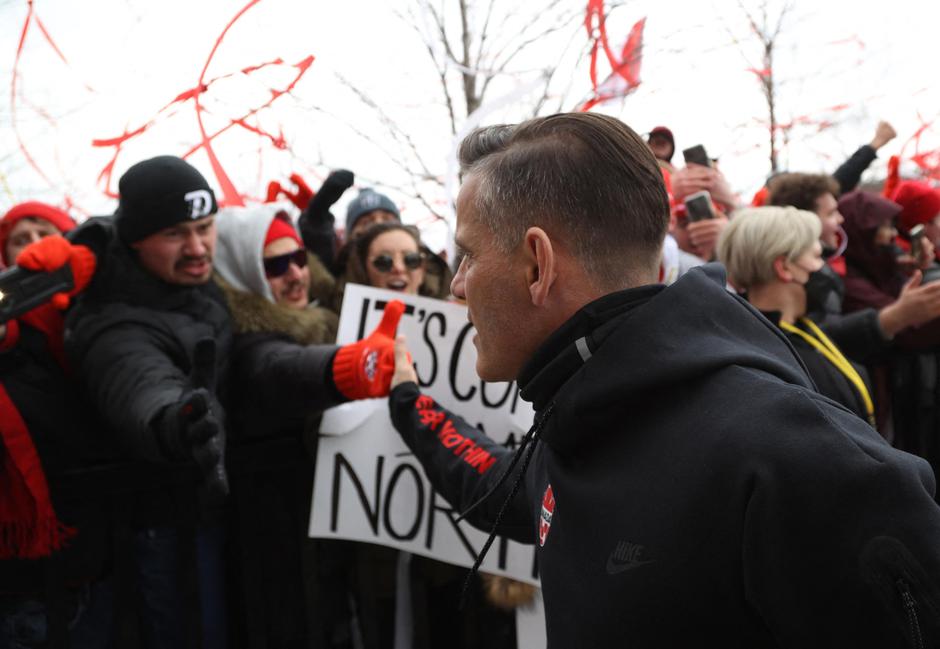
[{"label": "short slicked-back greying brown hair of the foreground man", "polygon": [[649,147],[620,120],[562,113],[478,129],[461,143],[460,165],[479,179],[475,208],[502,252],[538,226],[600,287],[657,271],[669,199]]}]

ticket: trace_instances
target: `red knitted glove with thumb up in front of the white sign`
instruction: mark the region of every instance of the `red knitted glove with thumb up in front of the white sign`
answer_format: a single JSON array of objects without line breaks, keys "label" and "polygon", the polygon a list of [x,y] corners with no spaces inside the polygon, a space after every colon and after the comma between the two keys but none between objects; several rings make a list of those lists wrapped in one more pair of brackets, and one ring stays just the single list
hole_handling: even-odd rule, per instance
[{"label": "red knitted glove with thumb up in front of the white sign", "polygon": [[382,322],[368,338],[340,347],[333,358],[333,383],[348,399],[373,399],[389,392],[395,373],[395,331],[405,312],[401,300],[385,306]]}]

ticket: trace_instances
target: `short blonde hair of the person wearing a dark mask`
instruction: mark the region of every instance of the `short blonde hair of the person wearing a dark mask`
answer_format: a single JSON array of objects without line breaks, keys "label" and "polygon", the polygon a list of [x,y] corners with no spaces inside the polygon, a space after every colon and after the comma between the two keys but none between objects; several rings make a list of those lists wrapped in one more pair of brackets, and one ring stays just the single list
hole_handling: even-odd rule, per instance
[{"label": "short blonde hair of the person wearing a dark mask", "polygon": [[776,279],[774,260],[796,261],[819,240],[822,225],[813,212],[795,207],[752,207],[738,210],[721,233],[718,259],[740,289]]}]

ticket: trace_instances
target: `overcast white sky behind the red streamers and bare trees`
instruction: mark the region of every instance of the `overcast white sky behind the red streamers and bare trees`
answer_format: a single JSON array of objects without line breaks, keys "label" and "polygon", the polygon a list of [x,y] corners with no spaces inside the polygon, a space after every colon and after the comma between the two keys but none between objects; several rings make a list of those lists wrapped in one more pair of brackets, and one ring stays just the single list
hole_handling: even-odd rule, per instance
[{"label": "overcast white sky behind the red streamers and bare trees", "polygon": [[[36,15],[70,64],[56,58],[34,23],[20,62],[15,115],[29,153],[51,180],[47,183],[28,164],[12,128],[12,70],[27,2],[0,0],[0,86],[5,88],[0,101],[0,210],[30,198],[61,203],[68,195],[84,212],[112,211],[114,202],[96,182],[111,152],[93,148],[91,140],[140,126],[159,107],[193,87],[216,38],[245,4],[245,0],[35,0]],[[587,65],[577,56],[587,46],[580,26],[585,4],[583,0],[560,3],[574,20],[514,62],[515,74],[493,84],[487,103],[498,105],[506,96],[514,100],[489,112],[485,122],[526,117],[534,94],[519,88],[533,83],[540,68],[558,61],[564,73],[552,86],[554,103],[549,104],[570,109],[585,95]],[[769,4],[775,13],[779,3]],[[523,7],[520,14],[542,13],[540,3],[509,5]],[[415,6],[412,0],[261,0],[236,23],[208,77],[276,57],[289,63],[308,54],[317,57],[292,96],[282,97],[259,116],[266,129],[284,133],[288,150],[276,150],[240,129],[216,140],[223,165],[240,191],[260,195],[268,180],[284,178],[291,171],[300,171],[315,183],[328,168],[342,166],[354,170],[362,184],[378,184],[401,202],[408,220],[425,217],[424,205],[396,191],[410,184],[398,164],[408,156],[407,150],[391,140],[376,112],[338,81],[338,76],[343,77],[382,106],[412,138],[432,175],[445,175],[454,138],[439,81],[418,34],[425,25],[418,24],[416,31],[401,16]],[[615,47],[644,16],[640,89],[624,101],[595,110],[617,115],[641,132],[666,124],[676,133],[680,149],[705,144],[711,155],[720,158],[732,185],[749,197],[769,167],[766,135],[759,124],[766,109],[743,54],[748,53],[750,64],[759,67],[758,49],[748,35],[742,10],[737,3],[718,0],[623,2],[609,23]],[[519,27],[509,20],[504,24],[496,32],[511,40]],[[831,117],[838,125],[822,133],[815,127],[794,130],[781,156],[783,166],[831,171],[871,138],[882,118],[891,120],[900,133],[885,150],[894,153],[919,125],[918,112],[928,120],[940,116],[940,89],[933,82],[938,25],[937,2],[863,5],[795,0],[779,39],[775,66],[782,83],[783,121],[809,114]],[[271,69],[214,86],[203,96],[211,110],[206,117],[209,130],[259,105],[269,96],[269,88],[283,87],[291,76],[288,69]],[[849,108],[823,112],[843,103]],[[140,159],[182,154],[196,142],[190,102],[126,146],[115,179]],[[929,148],[940,146],[940,131],[928,132],[924,142]],[[191,160],[215,185],[205,156],[197,153]],[[873,173],[883,173],[883,166],[876,165]],[[437,209],[445,211],[446,192],[427,183],[422,189]],[[343,204],[338,207],[341,213]]]}]

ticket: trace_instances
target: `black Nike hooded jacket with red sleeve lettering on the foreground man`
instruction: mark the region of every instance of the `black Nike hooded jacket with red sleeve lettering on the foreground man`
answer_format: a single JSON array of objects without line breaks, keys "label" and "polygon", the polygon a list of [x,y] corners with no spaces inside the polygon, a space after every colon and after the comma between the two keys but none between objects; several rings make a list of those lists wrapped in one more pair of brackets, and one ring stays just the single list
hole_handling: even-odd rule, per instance
[{"label": "black Nike hooded jacket with red sleeve lettering on the foreground man", "polygon": [[[540,439],[501,529],[540,545],[549,647],[934,646],[929,467],[813,392],[720,274],[593,302],[519,377]],[[414,384],[391,410],[455,507],[505,470]]]}]

